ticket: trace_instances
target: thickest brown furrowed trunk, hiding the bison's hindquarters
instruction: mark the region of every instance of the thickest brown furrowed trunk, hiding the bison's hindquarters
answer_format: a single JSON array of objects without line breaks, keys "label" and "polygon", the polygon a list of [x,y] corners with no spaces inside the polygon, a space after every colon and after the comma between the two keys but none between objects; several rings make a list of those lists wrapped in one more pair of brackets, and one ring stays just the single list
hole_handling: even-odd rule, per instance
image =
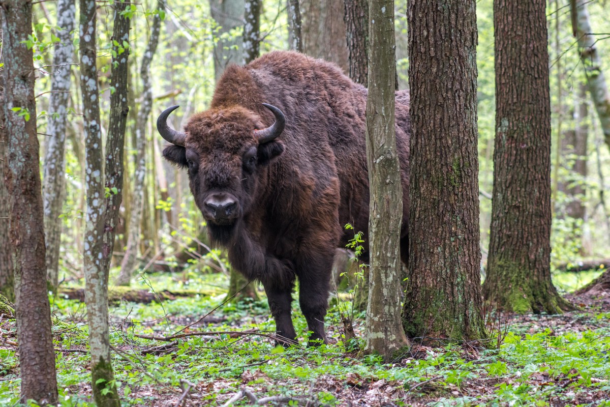
[{"label": "thickest brown furrowed trunk, hiding the bison's hindquarters", "polygon": [[482,339],[475,0],[443,7],[410,0],[407,19],[412,136],[404,328],[424,342]]}]

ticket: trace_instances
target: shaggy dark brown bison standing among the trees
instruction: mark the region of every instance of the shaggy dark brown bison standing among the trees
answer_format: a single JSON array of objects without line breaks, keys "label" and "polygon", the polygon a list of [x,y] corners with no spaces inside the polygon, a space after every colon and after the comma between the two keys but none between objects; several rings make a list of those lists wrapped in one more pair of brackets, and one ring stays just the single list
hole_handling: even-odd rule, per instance
[{"label": "shaggy dark brown bison standing among the trees", "polygon": [[[157,121],[172,143],[163,156],[187,169],[210,239],[228,249],[232,267],[265,287],[283,344],[296,342],[291,318],[296,279],[301,311],[313,332],[310,344],[326,342],[335,248],[351,237],[343,225],[368,234],[366,99],[367,90],[332,63],[276,51],[246,67],[227,68],[210,109],[193,115],[184,132],[166,124],[176,106]],[[395,123],[406,262],[407,92],[396,93]]]}]

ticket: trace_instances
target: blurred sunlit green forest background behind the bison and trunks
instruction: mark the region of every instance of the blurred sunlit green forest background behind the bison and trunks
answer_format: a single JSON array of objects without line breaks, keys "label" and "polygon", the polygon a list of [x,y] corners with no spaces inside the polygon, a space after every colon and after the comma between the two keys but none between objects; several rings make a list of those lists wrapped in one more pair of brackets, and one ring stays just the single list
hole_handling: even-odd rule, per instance
[{"label": "blurred sunlit green forest background behind the bison and trunks", "polygon": [[[129,40],[129,86],[125,138],[123,204],[110,283],[117,281],[121,262],[135,272],[195,267],[201,271],[224,272],[229,264],[223,254],[209,251],[205,223],[188,191],[184,171],[172,167],[160,156],[164,141],[154,129],[154,119],[165,107],[181,105],[174,113],[174,127],[181,128],[192,113],[209,105],[215,80],[228,63],[243,63],[243,0],[170,2],[159,9],[155,1],[131,5],[132,29]],[[265,0],[260,13],[260,53],[289,49],[291,31],[286,1]],[[601,69],[610,70],[610,20],[606,1],[587,4],[590,25],[596,34]],[[551,234],[551,264],[565,270],[587,259],[610,258],[610,154],[595,108],[586,92],[586,68],[580,58],[578,41],[572,34],[568,1],[551,1],[547,9],[551,64],[551,112],[553,148],[551,169],[554,209]],[[38,132],[41,144],[41,173],[45,174],[45,153],[51,142],[48,129],[54,44],[57,43],[56,2],[34,6],[34,47],[37,80]],[[349,73],[345,42],[346,26],[342,2],[304,0],[301,2],[303,52],[332,60]],[[407,82],[406,1],[397,1],[397,75],[399,88]],[[159,45],[149,65],[149,85],[142,68],[154,20],[159,18]],[[477,3],[479,186],[481,201],[481,251],[484,272],[489,244],[491,192],[493,184],[493,138],[495,89],[493,71],[492,1]],[[101,130],[109,123],[112,59],[113,10],[98,2],[98,59]],[[524,30],[527,27],[523,27]],[[606,34],[604,34],[606,33]],[[73,35],[73,61],[78,61],[78,37]],[[85,211],[84,131],[81,120],[79,75],[73,69],[67,98],[68,122],[65,140],[65,191],[45,190],[63,195],[60,207],[59,281],[82,278]],[[138,119],[152,92],[148,117]],[[148,106],[147,106],[148,107]],[[138,122],[138,120],[140,120]],[[138,129],[138,126],[140,128]],[[515,169],[519,171],[518,169]],[[139,173],[143,171],[143,173]],[[140,182],[139,180],[142,179]],[[107,191],[112,193],[112,191]],[[606,193],[606,198],[605,198]],[[49,200],[49,196],[45,200]],[[140,209],[141,206],[141,209]],[[49,230],[46,231],[49,233]],[[48,235],[49,236],[49,235]],[[59,235],[56,235],[59,236]],[[131,236],[131,244],[129,242]],[[52,237],[59,239],[59,237]],[[198,243],[199,242],[199,243]],[[218,262],[220,259],[220,263]],[[592,277],[592,276],[590,276]],[[586,279],[590,279],[587,277]],[[123,279],[123,284],[128,284]],[[226,279],[228,286],[229,279]],[[561,288],[561,283],[559,283]]]}]

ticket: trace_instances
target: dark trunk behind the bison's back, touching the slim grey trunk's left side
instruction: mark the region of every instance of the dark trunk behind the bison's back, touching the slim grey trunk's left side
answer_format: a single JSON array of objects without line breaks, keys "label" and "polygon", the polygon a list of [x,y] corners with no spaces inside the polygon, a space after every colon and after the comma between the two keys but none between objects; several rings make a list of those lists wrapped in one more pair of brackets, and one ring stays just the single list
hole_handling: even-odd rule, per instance
[{"label": "dark trunk behind the bison's back, touching the slim grey trunk's left side", "polygon": [[368,0],[344,0],[350,78],[368,86]]}]

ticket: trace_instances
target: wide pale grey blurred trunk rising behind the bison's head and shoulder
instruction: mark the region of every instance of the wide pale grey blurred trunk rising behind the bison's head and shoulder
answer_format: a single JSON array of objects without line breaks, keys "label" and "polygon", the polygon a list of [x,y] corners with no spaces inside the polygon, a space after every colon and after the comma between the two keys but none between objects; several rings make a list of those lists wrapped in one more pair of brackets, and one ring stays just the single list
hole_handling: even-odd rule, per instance
[{"label": "wide pale grey blurred trunk rising behind the bison's head and shoulder", "polygon": [[238,35],[231,38],[221,38],[223,34],[230,34],[243,26],[244,0],[210,0],[210,13],[218,24],[214,33],[214,72],[216,81],[220,79],[229,63],[240,63],[243,60],[242,38]]}]

